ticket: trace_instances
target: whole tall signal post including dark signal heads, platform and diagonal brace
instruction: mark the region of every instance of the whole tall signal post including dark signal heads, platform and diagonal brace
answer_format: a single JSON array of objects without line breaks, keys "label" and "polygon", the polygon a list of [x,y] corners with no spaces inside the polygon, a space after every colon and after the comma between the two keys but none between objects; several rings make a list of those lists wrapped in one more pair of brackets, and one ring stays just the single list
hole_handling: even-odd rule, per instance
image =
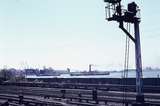
[{"label": "whole tall signal post including dark signal heads, platform and diagonal brace", "polygon": [[[142,61],[141,61],[141,45],[139,23],[140,17],[137,16],[139,9],[135,2],[129,3],[127,9],[122,9],[121,0],[104,0],[107,4],[106,20],[117,21],[119,28],[134,42],[135,44],[135,61],[136,61],[136,102],[144,103],[144,95],[142,92]],[[134,24],[134,37],[124,28],[124,23]]]}]

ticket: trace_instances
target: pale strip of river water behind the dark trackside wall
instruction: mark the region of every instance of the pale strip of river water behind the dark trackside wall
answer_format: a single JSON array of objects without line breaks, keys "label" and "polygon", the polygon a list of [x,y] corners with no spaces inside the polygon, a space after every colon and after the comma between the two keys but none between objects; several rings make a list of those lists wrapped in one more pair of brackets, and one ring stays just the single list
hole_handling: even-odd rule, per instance
[{"label": "pale strip of river water behind the dark trackside wall", "polygon": [[[134,78],[135,71],[128,71],[128,77]],[[122,78],[122,72],[111,72],[110,75],[88,75],[88,76],[70,76],[69,74],[62,74],[60,76],[26,76],[27,78]],[[146,70],[143,71],[143,78],[159,78],[160,70]]]}]

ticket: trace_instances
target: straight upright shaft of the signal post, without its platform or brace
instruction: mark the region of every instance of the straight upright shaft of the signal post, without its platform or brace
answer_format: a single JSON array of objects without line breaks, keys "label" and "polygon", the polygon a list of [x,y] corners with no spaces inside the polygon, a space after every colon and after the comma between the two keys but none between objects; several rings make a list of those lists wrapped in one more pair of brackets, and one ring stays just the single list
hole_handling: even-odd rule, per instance
[{"label": "straight upright shaft of the signal post, without its platform or brace", "polygon": [[135,60],[136,60],[136,102],[143,103],[144,95],[142,92],[142,60],[141,60],[141,44],[139,33],[139,21],[134,22],[135,30]]}]

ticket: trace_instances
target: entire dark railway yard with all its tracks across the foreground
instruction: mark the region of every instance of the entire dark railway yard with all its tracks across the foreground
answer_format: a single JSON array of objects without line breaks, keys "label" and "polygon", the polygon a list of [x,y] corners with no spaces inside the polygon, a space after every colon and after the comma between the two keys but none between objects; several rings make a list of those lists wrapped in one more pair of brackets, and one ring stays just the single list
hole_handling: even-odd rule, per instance
[{"label": "entire dark railway yard with all its tracks across the foreground", "polygon": [[[159,106],[159,90],[159,86],[145,86],[145,103],[149,106]],[[125,87],[118,84],[71,83],[0,85],[1,106],[129,106],[134,102],[136,93],[133,85]]]}]

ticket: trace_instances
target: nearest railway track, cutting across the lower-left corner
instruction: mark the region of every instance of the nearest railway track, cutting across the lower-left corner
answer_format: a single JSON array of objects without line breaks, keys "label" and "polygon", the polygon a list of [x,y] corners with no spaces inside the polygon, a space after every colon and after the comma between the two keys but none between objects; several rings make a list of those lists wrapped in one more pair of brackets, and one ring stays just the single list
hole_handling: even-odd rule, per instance
[{"label": "nearest railway track, cutting across the lower-left corner", "polygon": [[44,94],[38,93],[40,92],[31,88],[0,86],[0,106],[20,106],[21,104],[24,106],[69,106],[60,101],[44,99],[42,97]]}]

